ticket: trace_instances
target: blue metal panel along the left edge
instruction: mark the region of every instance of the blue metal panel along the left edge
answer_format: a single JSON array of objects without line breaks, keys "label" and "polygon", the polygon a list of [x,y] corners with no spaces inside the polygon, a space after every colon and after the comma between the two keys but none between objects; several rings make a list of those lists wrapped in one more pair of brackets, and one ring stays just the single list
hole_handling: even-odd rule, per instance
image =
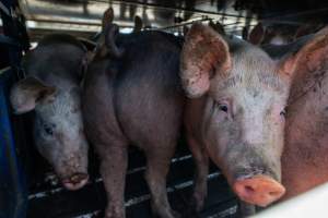
[{"label": "blue metal panel along the left edge", "polygon": [[11,72],[0,74],[0,218],[26,217],[26,185],[21,170],[8,104]]}]

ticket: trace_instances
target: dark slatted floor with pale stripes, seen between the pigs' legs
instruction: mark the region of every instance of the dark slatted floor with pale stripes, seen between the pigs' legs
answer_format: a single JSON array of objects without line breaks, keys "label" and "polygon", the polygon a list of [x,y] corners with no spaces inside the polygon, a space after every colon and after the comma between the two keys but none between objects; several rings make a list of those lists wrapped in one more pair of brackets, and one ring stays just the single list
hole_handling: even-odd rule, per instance
[{"label": "dark slatted floor with pale stripes, seen between the pigs' legs", "polygon": [[[94,156],[91,156],[94,159]],[[69,192],[54,183],[51,172],[44,170],[31,185],[28,218],[90,218],[102,217],[106,194],[97,172],[97,160],[92,160],[92,179],[80,191]],[[143,179],[144,158],[141,152],[131,149],[126,182],[127,218],[152,217],[150,195]],[[38,165],[40,165],[38,162]],[[44,165],[43,165],[44,166]],[[220,171],[211,166],[209,196],[200,215],[190,213],[194,160],[186,146],[180,145],[172,160],[167,180],[171,205],[183,217],[235,217],[236,198]],[[50,174],[50,175],[49,175]],[[56,183],[56,182],[55,182]]]}]

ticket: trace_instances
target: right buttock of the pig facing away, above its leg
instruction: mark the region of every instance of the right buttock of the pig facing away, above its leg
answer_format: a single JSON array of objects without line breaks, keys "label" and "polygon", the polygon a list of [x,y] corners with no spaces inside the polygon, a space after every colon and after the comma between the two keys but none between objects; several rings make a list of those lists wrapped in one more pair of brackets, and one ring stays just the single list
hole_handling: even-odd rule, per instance
[{"label": "right buttock of the pig facing away, above its leg", "polygon": [[184,104],[179,51],[174,36],[145,32],[122,59],[115,84],[117,118],[139,147],[176,141]]}]

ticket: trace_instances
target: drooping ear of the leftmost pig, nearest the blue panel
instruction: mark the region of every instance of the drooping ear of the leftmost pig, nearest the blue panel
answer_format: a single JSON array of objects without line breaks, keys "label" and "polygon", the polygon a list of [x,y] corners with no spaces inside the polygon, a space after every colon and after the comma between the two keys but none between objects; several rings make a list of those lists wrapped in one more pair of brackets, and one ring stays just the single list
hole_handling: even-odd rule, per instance
[{"label": "drooping ear of the leftmost pig, nearest the blue panel", "polygon": [[20,114],[33,110],[39,102],[54,99],[55,93],[55,87],[35,77],[26,77],[11,88],[10,101],[14,112]]}]

